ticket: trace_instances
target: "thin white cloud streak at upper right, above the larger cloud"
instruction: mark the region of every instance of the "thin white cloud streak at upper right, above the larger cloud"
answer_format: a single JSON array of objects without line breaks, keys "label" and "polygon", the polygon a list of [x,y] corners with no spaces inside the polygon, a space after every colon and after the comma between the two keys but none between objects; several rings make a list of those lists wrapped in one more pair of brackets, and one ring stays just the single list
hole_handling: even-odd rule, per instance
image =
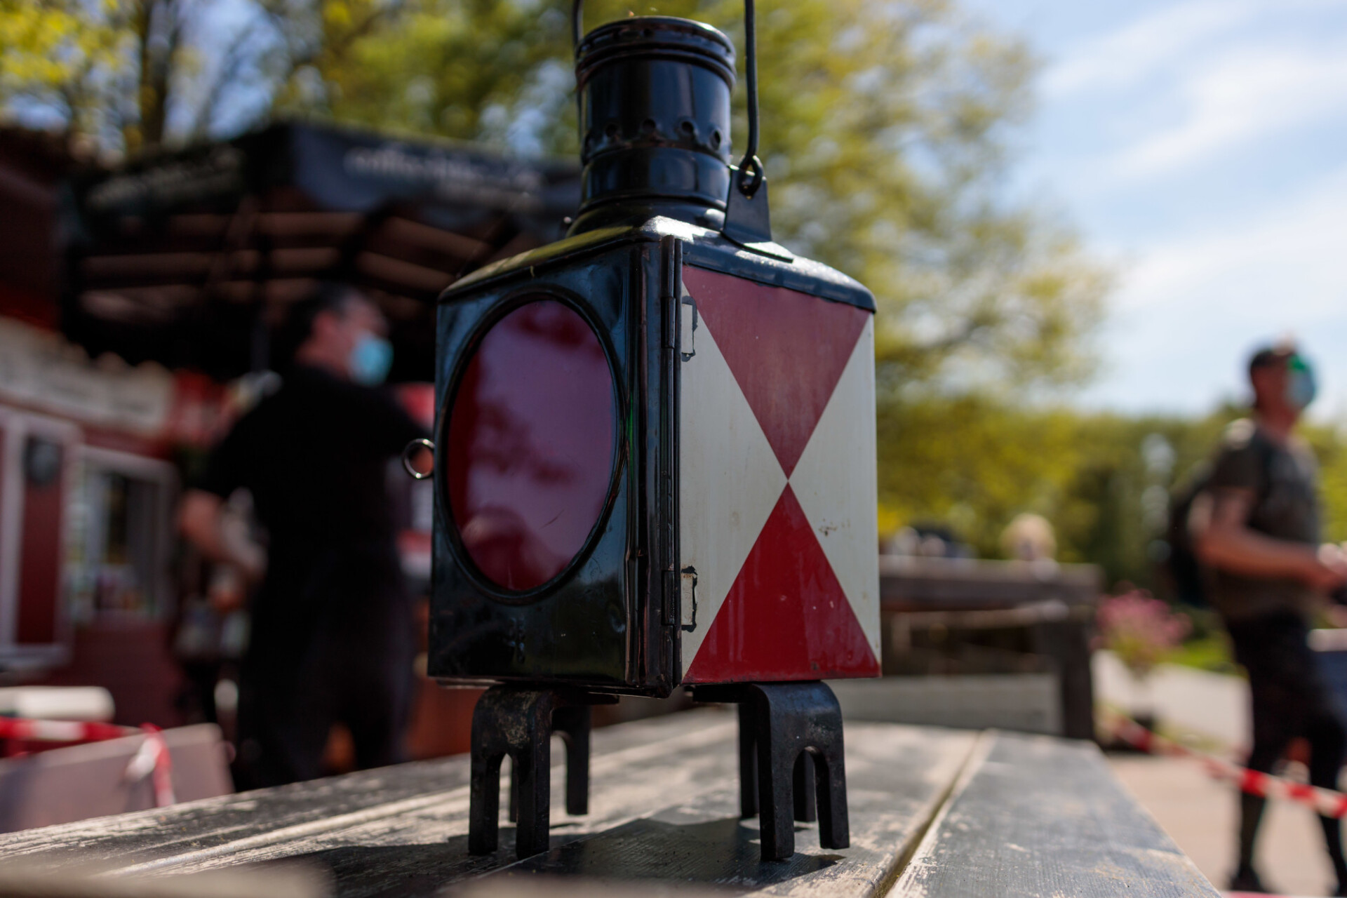
[{"label": "thin white cloud streak at upper right, above the larger cloud", "polygon": [[1109,166],[1114,175],[1154,176],[1338,114],[1347,104],[1347,42],[1223,54],[1177,93],[1187,106],[1183,121],[1123,148]]}]

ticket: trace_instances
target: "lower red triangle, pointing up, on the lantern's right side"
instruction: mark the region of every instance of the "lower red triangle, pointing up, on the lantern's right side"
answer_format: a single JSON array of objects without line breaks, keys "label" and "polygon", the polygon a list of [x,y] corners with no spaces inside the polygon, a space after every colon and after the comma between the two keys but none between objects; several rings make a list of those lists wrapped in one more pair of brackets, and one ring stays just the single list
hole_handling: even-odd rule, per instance
[{"label": "lower red triangle, pointing up, on the lantern's right side", "polygon": [[683,681],[878,675],[870,641],[787,486]]}]

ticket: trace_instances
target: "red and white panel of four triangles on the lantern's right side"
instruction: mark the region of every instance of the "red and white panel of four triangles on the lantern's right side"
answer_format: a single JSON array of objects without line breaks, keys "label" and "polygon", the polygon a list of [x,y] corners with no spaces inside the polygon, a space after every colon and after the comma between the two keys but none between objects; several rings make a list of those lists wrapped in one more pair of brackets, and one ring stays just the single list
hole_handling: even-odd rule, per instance
[{"label": "red and white panel of four triangles on the lantern's right side", "polygon": [[683,681],[878,676],[873,315],[691,267],[683,293]]}]

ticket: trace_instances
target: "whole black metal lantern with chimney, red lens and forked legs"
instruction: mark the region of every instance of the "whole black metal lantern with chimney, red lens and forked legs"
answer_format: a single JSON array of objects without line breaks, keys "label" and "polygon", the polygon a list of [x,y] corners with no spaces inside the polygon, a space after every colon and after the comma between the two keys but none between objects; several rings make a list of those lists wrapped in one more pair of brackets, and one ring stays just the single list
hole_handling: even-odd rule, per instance
[{"label": "whole black metal lantern with chimney, red lens and forked legs", "polygon": [[792,851],[773,784],[803,749],[831,784],[820,841],[845,847],[841,714],[818,681],[880,673],[874,300],[770,241],[761,163],[730,164],[721,32],[626,19],[577,58],[571,234],[439,306],[428,673],[504,684],[474,716],[471,850],[494,848],[501,753],[531,758],[520,852],[547,844],[537,777],[562,724],[525,738],[520,716],[679,685],[742,703],[764,858]]}]

